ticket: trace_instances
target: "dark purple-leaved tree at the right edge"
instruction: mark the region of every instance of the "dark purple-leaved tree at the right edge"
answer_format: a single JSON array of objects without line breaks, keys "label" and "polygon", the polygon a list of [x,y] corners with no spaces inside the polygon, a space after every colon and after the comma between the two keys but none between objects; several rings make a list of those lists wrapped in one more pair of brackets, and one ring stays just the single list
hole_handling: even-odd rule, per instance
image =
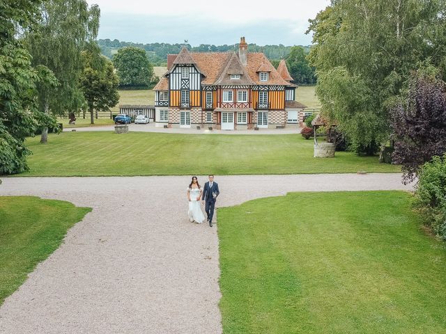
[{"label": "dark purple-leaved tree at the right edge", "polygon": [[446,152],[446,84],[440,79],[418,77],[407,100],[391,111],[394,164],[403,165],[403,182],[434,156]]}]

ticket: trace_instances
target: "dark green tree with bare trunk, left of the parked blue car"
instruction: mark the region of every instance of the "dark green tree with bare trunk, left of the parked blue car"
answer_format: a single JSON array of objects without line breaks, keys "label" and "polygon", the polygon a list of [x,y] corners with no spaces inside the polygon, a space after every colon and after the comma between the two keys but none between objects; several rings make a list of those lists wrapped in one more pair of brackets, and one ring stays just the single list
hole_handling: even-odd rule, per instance
[{"label": "dark green tree with bare trunk, left of the parked blue car", "polygon": [[108,111],[119,102],[118,85],[112,61],[101,56],[96,42],[90,42],[82,53],[84,71],[80,85],[85,97],[86,108],[94,124],[94,111]]}]

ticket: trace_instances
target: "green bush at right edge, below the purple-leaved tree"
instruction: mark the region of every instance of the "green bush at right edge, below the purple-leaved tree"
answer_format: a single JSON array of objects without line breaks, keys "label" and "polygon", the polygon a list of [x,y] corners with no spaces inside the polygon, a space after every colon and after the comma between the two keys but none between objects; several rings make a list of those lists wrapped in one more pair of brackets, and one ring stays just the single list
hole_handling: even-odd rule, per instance
[{"label": "green bush at right edge, below the purple-leaved tree", "polygon": [[426,225],[446,240],[446,154],[426,162],[418,174],[414,206]]}]

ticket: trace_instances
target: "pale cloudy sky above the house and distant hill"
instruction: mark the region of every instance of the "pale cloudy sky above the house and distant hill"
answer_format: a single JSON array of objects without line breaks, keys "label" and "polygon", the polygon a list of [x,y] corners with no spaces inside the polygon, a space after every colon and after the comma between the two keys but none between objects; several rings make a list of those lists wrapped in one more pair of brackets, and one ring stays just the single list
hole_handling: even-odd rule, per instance
[{"label": "pale cloudy sky above the house and distant hill", "polygon": [[308,19],[329,0],[203,1],[87,0],[101,10],[98,38],[126,42],[310,45]]}]

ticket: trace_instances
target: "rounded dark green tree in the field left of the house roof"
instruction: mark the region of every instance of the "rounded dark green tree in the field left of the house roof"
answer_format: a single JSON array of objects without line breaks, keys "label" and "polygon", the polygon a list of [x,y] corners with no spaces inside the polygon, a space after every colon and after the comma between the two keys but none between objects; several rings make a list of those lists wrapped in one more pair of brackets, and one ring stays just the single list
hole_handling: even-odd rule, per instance
[{"label": "rounded dark green tree in the field left of the house roof", "polygon": [[155,79],[153,65],[148,61],[146,51],[138,47],[123,47],[113,57],[120,86],[148,87]]}]

